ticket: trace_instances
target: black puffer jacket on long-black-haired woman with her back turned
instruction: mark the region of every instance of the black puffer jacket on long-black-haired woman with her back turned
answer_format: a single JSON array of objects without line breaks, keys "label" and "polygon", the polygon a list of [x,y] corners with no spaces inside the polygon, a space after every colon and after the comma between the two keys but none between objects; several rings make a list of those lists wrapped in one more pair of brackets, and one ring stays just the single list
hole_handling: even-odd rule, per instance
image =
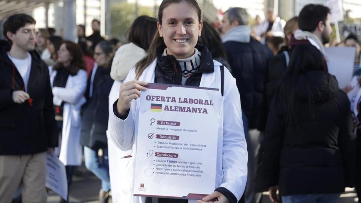
[{"label": "black puffer jacket on long-black-haired woman with her back turned", "polygon": [[[256,187],[279,185],[282,196],[341,193],[355,184],[350,102],[329,73],[308,72],[295,83],[297,125],[284,119],[289,112],[283,111],[285,102],[277,91],[258,155]],[[311,108],[309,98],[314,100]]]}]

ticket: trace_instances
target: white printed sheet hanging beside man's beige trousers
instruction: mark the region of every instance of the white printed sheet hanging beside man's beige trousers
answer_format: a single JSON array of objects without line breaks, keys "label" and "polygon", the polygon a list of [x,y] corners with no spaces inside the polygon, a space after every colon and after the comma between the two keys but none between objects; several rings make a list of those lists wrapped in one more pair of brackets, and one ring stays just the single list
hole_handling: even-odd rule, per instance
[{"label": "white printed sheet hanging beside man's beige trousers", "polygon": [[68,199],[68,181],[64,164],[53,154],[46,155],[46,180],[45,186],[60,195],[63,199]]}]

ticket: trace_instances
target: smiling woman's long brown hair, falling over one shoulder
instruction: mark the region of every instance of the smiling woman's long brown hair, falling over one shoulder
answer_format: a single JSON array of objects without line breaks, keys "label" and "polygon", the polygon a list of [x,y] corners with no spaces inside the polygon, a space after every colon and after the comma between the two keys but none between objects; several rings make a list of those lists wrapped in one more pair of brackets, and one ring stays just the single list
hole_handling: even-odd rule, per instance
[{"label": "smiling woman's long brown hair, falling over one shoulder", "polygon": [[[158,22],[162,25],[162,17],[163,17],[163,10],[168,7],[170,4],[178,4],[182,1],[186,1],[191,8],[193,8],[198,15],[198,20],[201,22],[201,8],[199,7],[196,0],[163,0],[159,6],[158,10]],[[157,48],[159,46],[165,45],[164,40],[160,37],[159,32],[157,31],[154,35],[151,45],[149,46],[147,56],[145,56],[142,60],[135,64],[135,79],[139,79],[140,75],[142,75],[145,68],[147,68],[154,59],[157,57]]]}]

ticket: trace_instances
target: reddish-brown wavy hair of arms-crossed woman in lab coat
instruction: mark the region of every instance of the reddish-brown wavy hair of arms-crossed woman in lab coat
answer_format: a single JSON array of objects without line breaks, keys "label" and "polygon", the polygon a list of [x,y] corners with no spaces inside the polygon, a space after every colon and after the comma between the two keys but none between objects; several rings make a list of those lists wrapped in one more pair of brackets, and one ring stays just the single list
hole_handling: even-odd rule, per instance
[{"label": "reddish-brown wavy hair of arms-crossed woman in lab coat", "polygon": [[83,52],[82,49],[78,46],[78,44],[75,44],[71,41],[64,41],[62,44],[65,44],[66,50],[69,51],[70,56],[72,57],[70,61],[70,66],[65,67],[62,63],[57,62],[57,64],[54,65],[53,70],[65,68],[71,74],[77,74],[78,71],[81,69],[86,70]]}]

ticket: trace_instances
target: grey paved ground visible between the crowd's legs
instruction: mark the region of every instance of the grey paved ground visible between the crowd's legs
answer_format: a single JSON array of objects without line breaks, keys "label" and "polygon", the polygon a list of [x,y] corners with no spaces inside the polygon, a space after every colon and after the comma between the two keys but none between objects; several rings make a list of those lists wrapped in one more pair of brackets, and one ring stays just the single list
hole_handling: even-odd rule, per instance
[{"label": "grey paved ground visible between the crowd's legs", "polygon": [[[73,178],[73,185],[70,187],[70,203],[97,203],[100,190],[100,180],[89,172],[84,166],[78,167]],[[49,192],[48,203],[58,203],[60,197],[53,192]],[[347,188],[342,194],[338,203],[356,203],[356,193],[351,188]],[[110,200],[109,203],[112,203]],[[271,203],[268,194],[262,196],[262,203]]]}]

